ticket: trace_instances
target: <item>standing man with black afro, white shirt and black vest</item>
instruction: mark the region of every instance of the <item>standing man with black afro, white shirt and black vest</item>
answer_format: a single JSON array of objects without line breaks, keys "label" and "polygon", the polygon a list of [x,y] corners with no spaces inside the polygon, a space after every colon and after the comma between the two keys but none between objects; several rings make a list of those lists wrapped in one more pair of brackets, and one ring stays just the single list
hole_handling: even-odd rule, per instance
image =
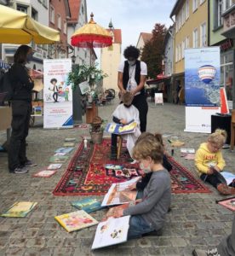
[{"label": "standing man with black afro, white shirt and black vest", "polygon": [[146,131],[146,116],[148,106],[145,95],[145,83],[147,75],[146,63],[138,61],[140,50],[130,45],[123,53],[126,61],[118,67],[118,88],[122,93],[130,91],[134,96],[132,104],[140,113],[140,131]]}]

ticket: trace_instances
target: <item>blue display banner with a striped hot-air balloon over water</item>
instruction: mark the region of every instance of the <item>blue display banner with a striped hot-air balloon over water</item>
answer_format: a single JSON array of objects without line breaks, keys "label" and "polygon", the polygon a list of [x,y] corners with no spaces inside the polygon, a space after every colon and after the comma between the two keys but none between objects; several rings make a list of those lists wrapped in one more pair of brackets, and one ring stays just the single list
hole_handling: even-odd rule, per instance
[{"label": "blue display banner with a striped hot-air balloon over water", "polygon": [[220,112],[220,66],[220,47],[185,49],[185,131],[211,132],[211,115]]}]

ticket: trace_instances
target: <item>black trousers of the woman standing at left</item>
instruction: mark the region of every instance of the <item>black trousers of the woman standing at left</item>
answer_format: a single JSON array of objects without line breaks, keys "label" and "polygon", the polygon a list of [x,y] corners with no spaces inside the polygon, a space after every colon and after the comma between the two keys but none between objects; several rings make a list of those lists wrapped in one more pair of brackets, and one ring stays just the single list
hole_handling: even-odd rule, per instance
[{"label": "black trousers of the woman standing at left", "polygon": [[26,137],[29,131],[31,102],[12,102],[12,133],[9,143],[9,171],[24,164],[26,158]]}]

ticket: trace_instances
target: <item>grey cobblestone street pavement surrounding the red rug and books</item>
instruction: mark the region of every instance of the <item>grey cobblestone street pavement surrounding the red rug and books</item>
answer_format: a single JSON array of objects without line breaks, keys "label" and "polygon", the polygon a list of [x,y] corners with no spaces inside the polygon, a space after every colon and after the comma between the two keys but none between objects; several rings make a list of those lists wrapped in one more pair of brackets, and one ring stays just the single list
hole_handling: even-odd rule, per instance
[{"label": "grey cobblestone street pavement surrounding the red rug and books", "polygon": [[[117,106],[117,100],[107,106],[99,107],[99,115],[111,120],[111,113]],[[196,117],[195,117],[196,118]],[[198,148],[206,140],[207,134],[184,132],[185,107],[164,103],[155,107],[149,102],[147,131],[173,133],[186,142],[186,148]],[[89,134],[89,130],[43,130],[43,119],[36,118],[36,124],[27,137],[27,152],[30,160],[37,162],[27,174],[10,174],[7,168],[7,155],[0,153],[0,210],[3,212],[15,201],[37,201],[37,209],[26,218],[0,218],[0,255],[192,255],[192,248],[214,247],[221,238],[231,232],[232,212],[217,204],[215,200],[222,196],[211,188],[211,194],[173,195],[172,211],[167,215],[163,236],[148,236],[128,241],[115,247],[106,247],[91,251],[96,226],[77,232],[67,233],[54,220],[55,215],[74,211],[70,201],[79,196],[54,196],[52,191],[66,170],[66,164],[60,172],[50,178],[32,177],[49,165],[49,157],[56,148],[62,147],[66,137]],[[6,134],[0,132],[0,144]],[[167,151],[171,148],[167,143]],[[235,152],[223,149],[227,168],[235,172]],[[183,160],[180,149],[175,149],[175,159],[197,176],[192,160]],[[68,161],[67,161],[68,163]],[[104,211],[92,214],[100,220]]]}]

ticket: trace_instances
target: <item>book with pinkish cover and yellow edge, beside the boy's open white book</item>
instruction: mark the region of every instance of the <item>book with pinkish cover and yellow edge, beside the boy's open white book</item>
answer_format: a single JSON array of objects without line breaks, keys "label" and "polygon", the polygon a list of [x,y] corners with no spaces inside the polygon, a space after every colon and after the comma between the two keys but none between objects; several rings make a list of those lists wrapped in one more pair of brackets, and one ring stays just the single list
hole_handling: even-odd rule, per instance
[{"label": "book with pinkish cover and yellow edge, beside the boy's open white book", "polygon": [[91,217],[87,212],[83,210],[65,213],[59,216],[55,216],[54,218],[67,232],[82,230],[84,228],[98,224],[98,221],[95,218]]}]

